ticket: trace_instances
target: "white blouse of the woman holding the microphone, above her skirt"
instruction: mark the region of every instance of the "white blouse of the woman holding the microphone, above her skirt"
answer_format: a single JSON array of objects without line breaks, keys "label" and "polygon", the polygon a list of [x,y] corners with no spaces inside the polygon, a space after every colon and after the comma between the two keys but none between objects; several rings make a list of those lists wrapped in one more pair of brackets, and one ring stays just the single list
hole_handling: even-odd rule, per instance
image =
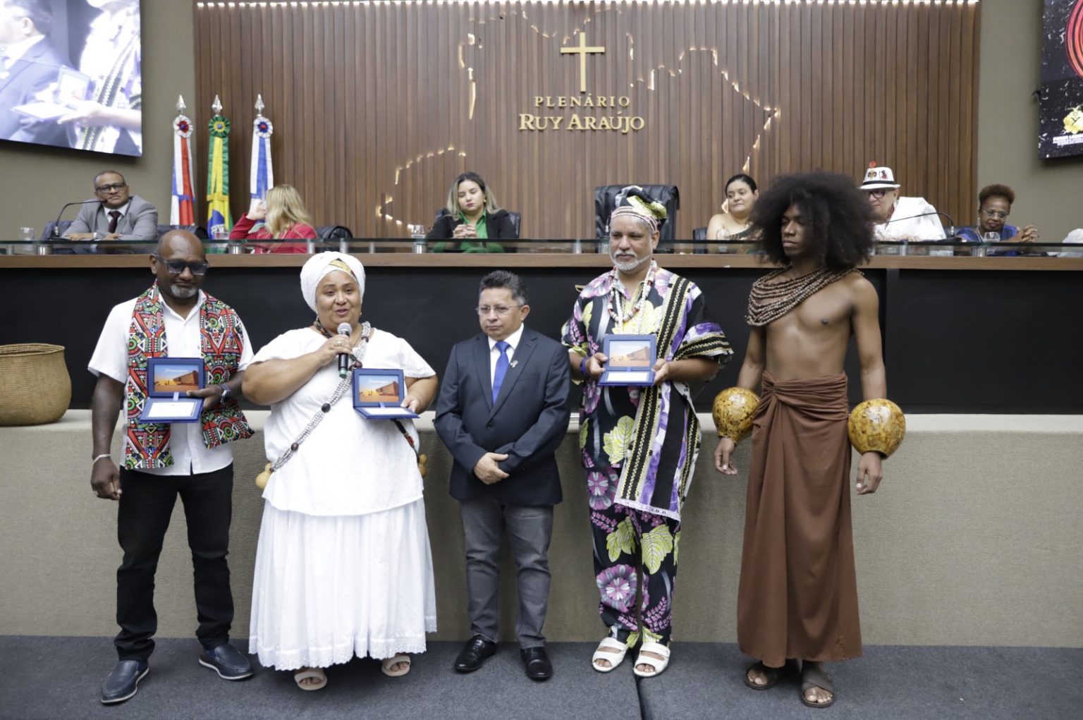
[{"label": "white blouse of the woman holding the microphone, above her skirt", "polygon": [[[253,362],[291,359],[327,341],[311,328],[289,330],[260,348]],[[366,368],[396,368],[405,378],[435,372],[402,338],[375,330],[365,350]],[[268,460],[274,462],[297,441],[338,388],[338,365],[328,363],[292,395],[271,405],[263,426]],[[331,405],[297,453],[271,473],[263,499],[278,510],[306,515],[364,515],[400,508],[421,498],[417,456],[391,420],[366,420],[351,393]],[[409,420],[400,420],[420,443]]]}]

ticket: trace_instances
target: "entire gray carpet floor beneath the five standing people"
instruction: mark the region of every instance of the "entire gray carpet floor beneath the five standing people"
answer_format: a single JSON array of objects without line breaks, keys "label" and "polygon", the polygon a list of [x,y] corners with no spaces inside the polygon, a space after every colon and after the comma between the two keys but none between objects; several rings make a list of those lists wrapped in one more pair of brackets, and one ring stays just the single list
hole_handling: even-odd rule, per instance
[{"label": "entire gray carpet floor beneath the five standing people", "polygon": [[115,662],[108,639],[0,637],[0,718],[1058,720],[1083,708],[1081,649],[867,646],[865,657],[830,667],[838,701],[810,716],[796,680],[767,692],[745,688],[747,660],[734,645],[678,643],[666,672],[638,691],[629,662],[608,675],[591,671],[587,643],[551,644],[556,675],[544,683],[523,676],[511,644],[478,672],[457,675],[451,666],[459,646],[429,643],[404,678],[354,659],[330,668],[323,691],[304,693],[285,672],[219,680],[196,663],[194,640],[159,640],[139,694],[104,707],[100,686]]}]

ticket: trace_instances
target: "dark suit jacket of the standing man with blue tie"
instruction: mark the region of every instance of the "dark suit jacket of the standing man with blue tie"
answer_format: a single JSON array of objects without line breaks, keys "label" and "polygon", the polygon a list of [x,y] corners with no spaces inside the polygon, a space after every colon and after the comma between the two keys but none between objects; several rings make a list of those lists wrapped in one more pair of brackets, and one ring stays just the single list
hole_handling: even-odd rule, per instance
[{"label": "dark suit jacket of the standing man with blue tie", "polygon": [[[451,494],[487,494],[500,502],[553,506],[561,501],[553,453],[567,433],[571,379],[567,350],[523,328],[513,367],[493,403],[488,338],[479,333],[452,349],[436,400],[436,432],[455,458]],[[485,453],[507,453],[508,477],[486,485],[473,474]]]}]

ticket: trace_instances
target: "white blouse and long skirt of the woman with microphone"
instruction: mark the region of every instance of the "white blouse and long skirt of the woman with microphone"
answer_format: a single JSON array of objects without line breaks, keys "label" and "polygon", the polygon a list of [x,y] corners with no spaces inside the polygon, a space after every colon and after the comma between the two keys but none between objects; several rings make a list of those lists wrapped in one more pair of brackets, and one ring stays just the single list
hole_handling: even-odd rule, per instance
[{"label": "white blouse and long skirt of the woman with microphone", "polygon": [[[298,357],[324,342],[312,329],[290,330],[252,362]],[[381,330],[364,365],[434,375],[405,340]],[[297,440],[338,381],[331,363],[271,406],[269,459]],[[436,601],[421,490],[416,455],[395,424],[362,418],[349,394],[336,403],[263,492],[248,652],[279,670],[425,652]]]}]

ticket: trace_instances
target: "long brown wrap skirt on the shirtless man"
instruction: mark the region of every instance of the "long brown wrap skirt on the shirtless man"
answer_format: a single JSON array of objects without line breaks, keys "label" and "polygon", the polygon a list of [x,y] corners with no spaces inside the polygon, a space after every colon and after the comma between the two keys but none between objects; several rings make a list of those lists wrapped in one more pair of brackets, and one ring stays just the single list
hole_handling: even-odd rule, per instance
[{"label": "long brown wrap skirt on the shirtless man", "polygon": [[775,380],[752,434],[738,590],[741,651],[786,658],[861,655],[850,522],[846,376]]}]

